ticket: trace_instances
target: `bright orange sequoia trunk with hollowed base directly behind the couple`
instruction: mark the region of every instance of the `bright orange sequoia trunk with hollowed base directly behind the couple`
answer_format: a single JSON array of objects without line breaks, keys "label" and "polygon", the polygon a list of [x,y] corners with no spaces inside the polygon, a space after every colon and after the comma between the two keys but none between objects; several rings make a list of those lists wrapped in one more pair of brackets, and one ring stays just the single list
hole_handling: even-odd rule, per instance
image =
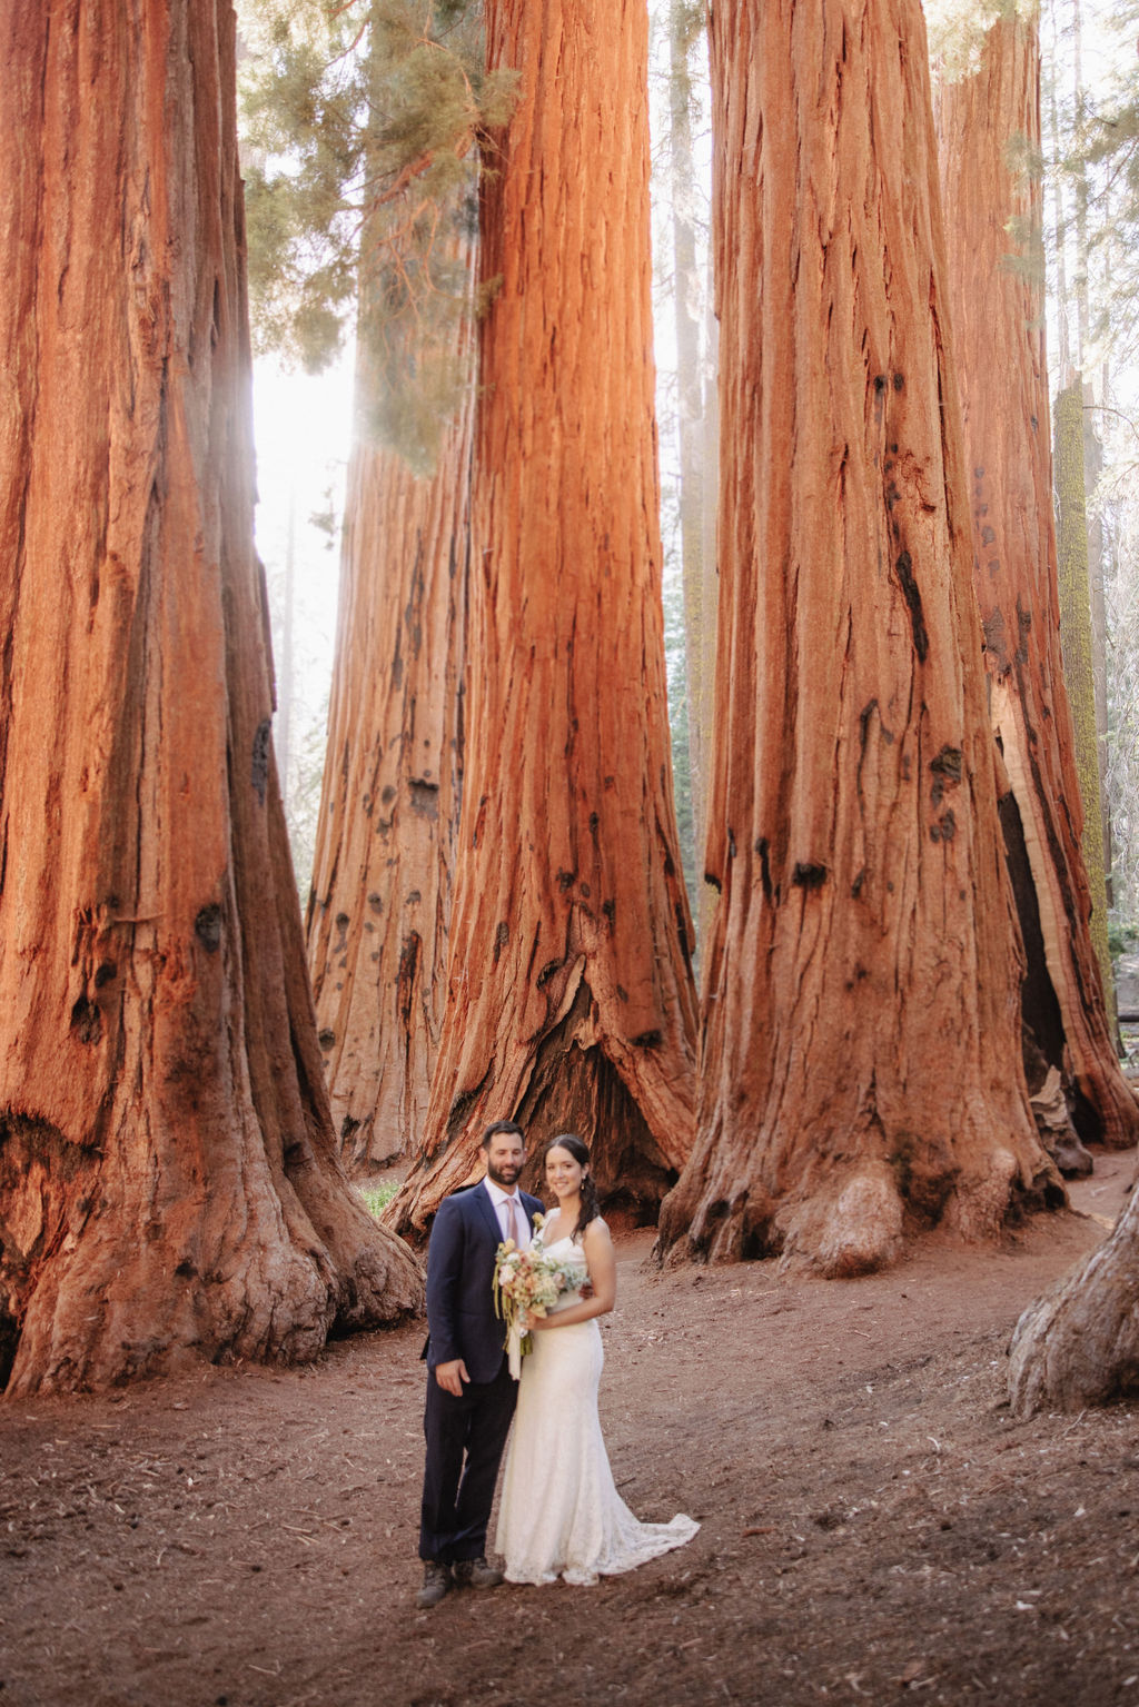
[{"label": "bright orange sequoia trunk with hollowed base directly behind the couple", "polygon": [[521,72],[492,160],[470,722],[423,1227],[519,1118],[594,1145],[649,1219],[692,1137],[695,997],[664,703],[649,307],[647,19],[487,7]]}]

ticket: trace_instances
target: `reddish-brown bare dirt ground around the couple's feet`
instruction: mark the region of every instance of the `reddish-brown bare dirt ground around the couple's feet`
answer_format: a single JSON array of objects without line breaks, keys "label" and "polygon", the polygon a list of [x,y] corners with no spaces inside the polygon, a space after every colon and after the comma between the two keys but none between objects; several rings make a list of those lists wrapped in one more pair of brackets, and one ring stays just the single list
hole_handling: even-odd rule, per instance
[{"label": "reddish-brown bare dirt ground around the couple's feet", "polygon": [[589,1589],[415,1610],[418,1326],[0,1407],[0,1707],[1139,1704],[1139,1403],[1004,1405],[1018,1313],[1134,1162],[864,1280],[659,1273],[623,1239],[613,1470],[702,1529]]}]

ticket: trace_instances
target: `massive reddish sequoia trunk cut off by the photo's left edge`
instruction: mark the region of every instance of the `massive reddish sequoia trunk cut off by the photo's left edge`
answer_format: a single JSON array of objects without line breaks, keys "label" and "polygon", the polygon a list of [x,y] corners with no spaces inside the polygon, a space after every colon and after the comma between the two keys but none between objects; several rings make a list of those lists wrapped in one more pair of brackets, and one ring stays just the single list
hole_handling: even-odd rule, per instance
[{"label": "massive reddish sequoia trunk cut off by the photo's left edge", "polygon": [[10,1393],[417,1306],[333,1154],[270,749],[234,15],[0,5]]}]

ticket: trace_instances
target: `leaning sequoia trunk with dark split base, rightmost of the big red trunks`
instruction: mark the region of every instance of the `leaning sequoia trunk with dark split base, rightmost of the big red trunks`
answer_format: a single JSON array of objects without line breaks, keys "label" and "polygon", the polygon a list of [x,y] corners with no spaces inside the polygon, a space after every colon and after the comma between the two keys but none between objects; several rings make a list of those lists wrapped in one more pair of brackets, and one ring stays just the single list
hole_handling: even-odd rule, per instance
[{"label": "leaning sequoia trunk with dark split base, rightmost of the big red trunks", "polygon": [[1130,1145],[1139,1137],[1139,1110],[1112,1041],[1079,842],[1083,807],[1060,655],[1043,300],[1042,288],[1009,265],[1009,222],[1040,222],[1040,181],[1009,169],[1009,149],[1021,138],[1040,145],[1040,46],[1035,24],[1009,17],[990,29],[980,70],[946,84],[939,101],[973,587],[992,722],[1031,871],[1031,886],[1018,891],[1028,949],[1025,1022],[1072,1086],[1079,1135]]}]

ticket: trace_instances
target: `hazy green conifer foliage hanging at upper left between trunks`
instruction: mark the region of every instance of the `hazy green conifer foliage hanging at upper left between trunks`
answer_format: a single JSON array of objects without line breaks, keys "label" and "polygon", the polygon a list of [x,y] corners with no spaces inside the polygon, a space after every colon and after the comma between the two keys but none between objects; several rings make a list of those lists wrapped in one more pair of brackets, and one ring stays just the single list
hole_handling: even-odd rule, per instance
[{"label": "hazy green conifer foliage hanging at upper left between trunks", "polygon": [[355,323],[365,425],[434,464],[470,382],[480,157],[514,106],[466,0],[246,0],[254,338],[319,372]]}]

